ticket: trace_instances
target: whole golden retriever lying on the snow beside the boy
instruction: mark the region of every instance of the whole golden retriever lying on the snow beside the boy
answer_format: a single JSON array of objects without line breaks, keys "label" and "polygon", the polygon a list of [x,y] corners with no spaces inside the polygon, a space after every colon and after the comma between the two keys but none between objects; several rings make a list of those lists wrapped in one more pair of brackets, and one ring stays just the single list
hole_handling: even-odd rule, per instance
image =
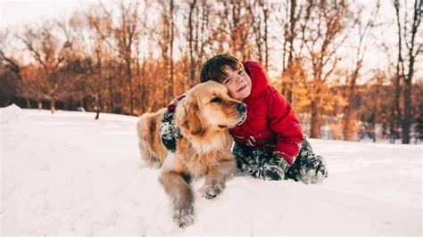
[{"label": "whole golden retriever lying on the snow beside the boy", "polygon": [[225,179],[235,171],[228,128],[245,119],[243,108],[245,104],[231,99],[220,83],[208,81],[193,87],[175,110],[175,124],[183,137],[173,153],[166,150],[159,135],[165,109],[139,119],[141,156],[147,164],[162,167],[159,180],[173,200],[173,217],[180,227],[190,225],[194,217],[191,178],[206,176],[200,191],[211,199],[223,190]]}]

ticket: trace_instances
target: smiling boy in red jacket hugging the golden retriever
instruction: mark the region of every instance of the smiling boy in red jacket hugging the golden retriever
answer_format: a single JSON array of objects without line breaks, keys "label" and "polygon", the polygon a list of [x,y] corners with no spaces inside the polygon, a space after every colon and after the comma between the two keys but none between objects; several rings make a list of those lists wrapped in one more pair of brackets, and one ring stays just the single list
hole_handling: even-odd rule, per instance
[{"label": "smiling boy in red jacket hugging the golden retriever", "polygon": [[[318,184],[328,177],[325,160],[313,154],[294,110],[269,85],[267,72],[258,62],[216,55],[201,69],[200,82],[208,80],[222,83],[230,97],[247,106],[245,122],[229,130],[235,140],[232,152],[236,166],[242,173],[265,180],[294,179],[304,184]],[[170,131],[174,130],[171,114],[177,102],[171,103],[167,119],[162,121],[162,141],[168,149],[171,140],[178,139],[178,133]]]}]

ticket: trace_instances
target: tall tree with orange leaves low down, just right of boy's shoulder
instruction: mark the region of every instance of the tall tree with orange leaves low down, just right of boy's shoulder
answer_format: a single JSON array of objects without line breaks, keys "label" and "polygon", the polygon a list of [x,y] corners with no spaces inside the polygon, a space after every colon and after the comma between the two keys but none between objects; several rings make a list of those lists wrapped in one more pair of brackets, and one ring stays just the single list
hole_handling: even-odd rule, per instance
[{"label": "tall tree with orange leaves low down, just right of boy's shoulder", "polygon": [[311,24],[305,28],[307,55],[311,81],[304,83],[308,91],[311,110],[311,137],[320,137],[321,115],[331,101],[328,91],[328,78],[336,70],[340,61],[337,51],[344,44],[345,21],[348,17],[346,4],[329,4],[325,1],[312,6]]}]

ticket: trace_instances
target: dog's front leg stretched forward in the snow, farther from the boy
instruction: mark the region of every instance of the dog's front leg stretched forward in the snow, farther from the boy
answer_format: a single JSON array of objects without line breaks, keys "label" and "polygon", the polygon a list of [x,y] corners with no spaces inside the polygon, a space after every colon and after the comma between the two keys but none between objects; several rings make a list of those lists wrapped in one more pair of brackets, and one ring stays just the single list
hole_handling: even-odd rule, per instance
[{"label": "dog's front leg stretched forward in the snow, farther from the boy", "polygon": [[173,219],[180,228],[194,221],[194,195],[184,177],[184,174],[176,171],[165,171],[161,178],[164,190],[173,201]]}]

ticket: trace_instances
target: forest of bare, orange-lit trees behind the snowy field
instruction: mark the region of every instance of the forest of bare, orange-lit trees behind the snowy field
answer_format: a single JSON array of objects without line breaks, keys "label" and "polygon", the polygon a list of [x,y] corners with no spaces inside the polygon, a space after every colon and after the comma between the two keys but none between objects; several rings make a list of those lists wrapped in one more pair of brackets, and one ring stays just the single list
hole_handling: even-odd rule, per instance
[{"label": "forest of bare, orange-lit trees behind the snowy field", "polygon": [[261,62],[311,138],[418,143],[422,9],[421,0],[98,2],[0,29],[0,107],[138,116],[229,53]]}]

